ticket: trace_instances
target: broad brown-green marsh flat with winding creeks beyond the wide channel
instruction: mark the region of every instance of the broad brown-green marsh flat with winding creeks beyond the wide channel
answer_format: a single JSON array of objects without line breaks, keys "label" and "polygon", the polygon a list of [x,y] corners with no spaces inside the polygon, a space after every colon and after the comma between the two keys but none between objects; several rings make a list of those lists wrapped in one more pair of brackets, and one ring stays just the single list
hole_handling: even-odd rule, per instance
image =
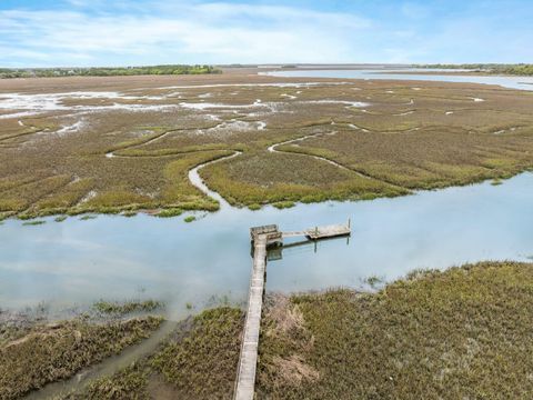
[{"label": "broad brown-green marsh flat with winding creeks beyond the wide channel", "polygon": [[[533,93],[258,76],[0,80],[0,217],[360,200],[533,168]],[[235,154],[237,157],[227,158]]]}]

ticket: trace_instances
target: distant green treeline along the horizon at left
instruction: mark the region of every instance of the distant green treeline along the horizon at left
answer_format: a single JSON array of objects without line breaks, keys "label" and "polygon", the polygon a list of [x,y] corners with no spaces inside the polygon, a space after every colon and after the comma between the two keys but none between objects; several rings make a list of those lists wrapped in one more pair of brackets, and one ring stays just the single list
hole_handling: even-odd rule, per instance
[{"label": "distant green treeline along the horizon at left", "polygon": [[212,66],[153,66],[153,67],[98,67],[98,68],[0,68],[0,78],[53,77],[117,77],[140,74],[202,74],[221,73]]}]

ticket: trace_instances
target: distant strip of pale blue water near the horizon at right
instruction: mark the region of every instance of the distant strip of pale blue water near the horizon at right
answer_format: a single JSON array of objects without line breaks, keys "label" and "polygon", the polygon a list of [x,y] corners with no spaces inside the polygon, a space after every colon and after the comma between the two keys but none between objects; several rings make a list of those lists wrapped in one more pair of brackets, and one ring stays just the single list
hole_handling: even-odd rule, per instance
[{"label": "distant strip of pale blue water near the horizon at right", "polygon": [[[424,73],[395,73],[395,72],[442,72],[440,69],[401,69],[401,70],[295,70],[295,71],[273,71],[265,74],[272,77],[285,78],[340,78],[340,79],[372,79],[372,80],[419,80],[438,82],[459,82],[459,83],[483,83],[499,84],[504,88],[533,90],[533,77],[499,77],[499,76],[461,76],[456,74],[424,74]],[[447,72],[454,72],[447,70]]]}]

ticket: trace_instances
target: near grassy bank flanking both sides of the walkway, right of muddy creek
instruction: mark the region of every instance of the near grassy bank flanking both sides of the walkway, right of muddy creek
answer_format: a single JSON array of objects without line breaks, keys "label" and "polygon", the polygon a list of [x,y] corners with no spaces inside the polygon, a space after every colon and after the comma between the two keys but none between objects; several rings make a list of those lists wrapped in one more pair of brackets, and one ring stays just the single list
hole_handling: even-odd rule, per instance
[{"label": "near grassy bank flanking both sides of the walkway, right of muddy creek", "polygon": [[[420,271],[374,293],[269,296],[258,399],[527,398],[533,264]],[[231,399],[243,314],[183,321],[150,357],[69,399]],[[122,396],[122,397],[121,397]]]}]

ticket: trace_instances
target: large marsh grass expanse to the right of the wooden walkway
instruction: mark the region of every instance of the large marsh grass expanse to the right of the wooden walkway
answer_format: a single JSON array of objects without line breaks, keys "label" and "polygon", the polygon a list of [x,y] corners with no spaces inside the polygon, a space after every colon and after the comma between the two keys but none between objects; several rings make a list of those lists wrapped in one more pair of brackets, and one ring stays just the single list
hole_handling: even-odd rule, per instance
[{"label": "large marsh grass expanse to the right of the wooden walkway", "polygon": [[258,399],[527,398],[533,264],[418,271],[265,310]]}]

